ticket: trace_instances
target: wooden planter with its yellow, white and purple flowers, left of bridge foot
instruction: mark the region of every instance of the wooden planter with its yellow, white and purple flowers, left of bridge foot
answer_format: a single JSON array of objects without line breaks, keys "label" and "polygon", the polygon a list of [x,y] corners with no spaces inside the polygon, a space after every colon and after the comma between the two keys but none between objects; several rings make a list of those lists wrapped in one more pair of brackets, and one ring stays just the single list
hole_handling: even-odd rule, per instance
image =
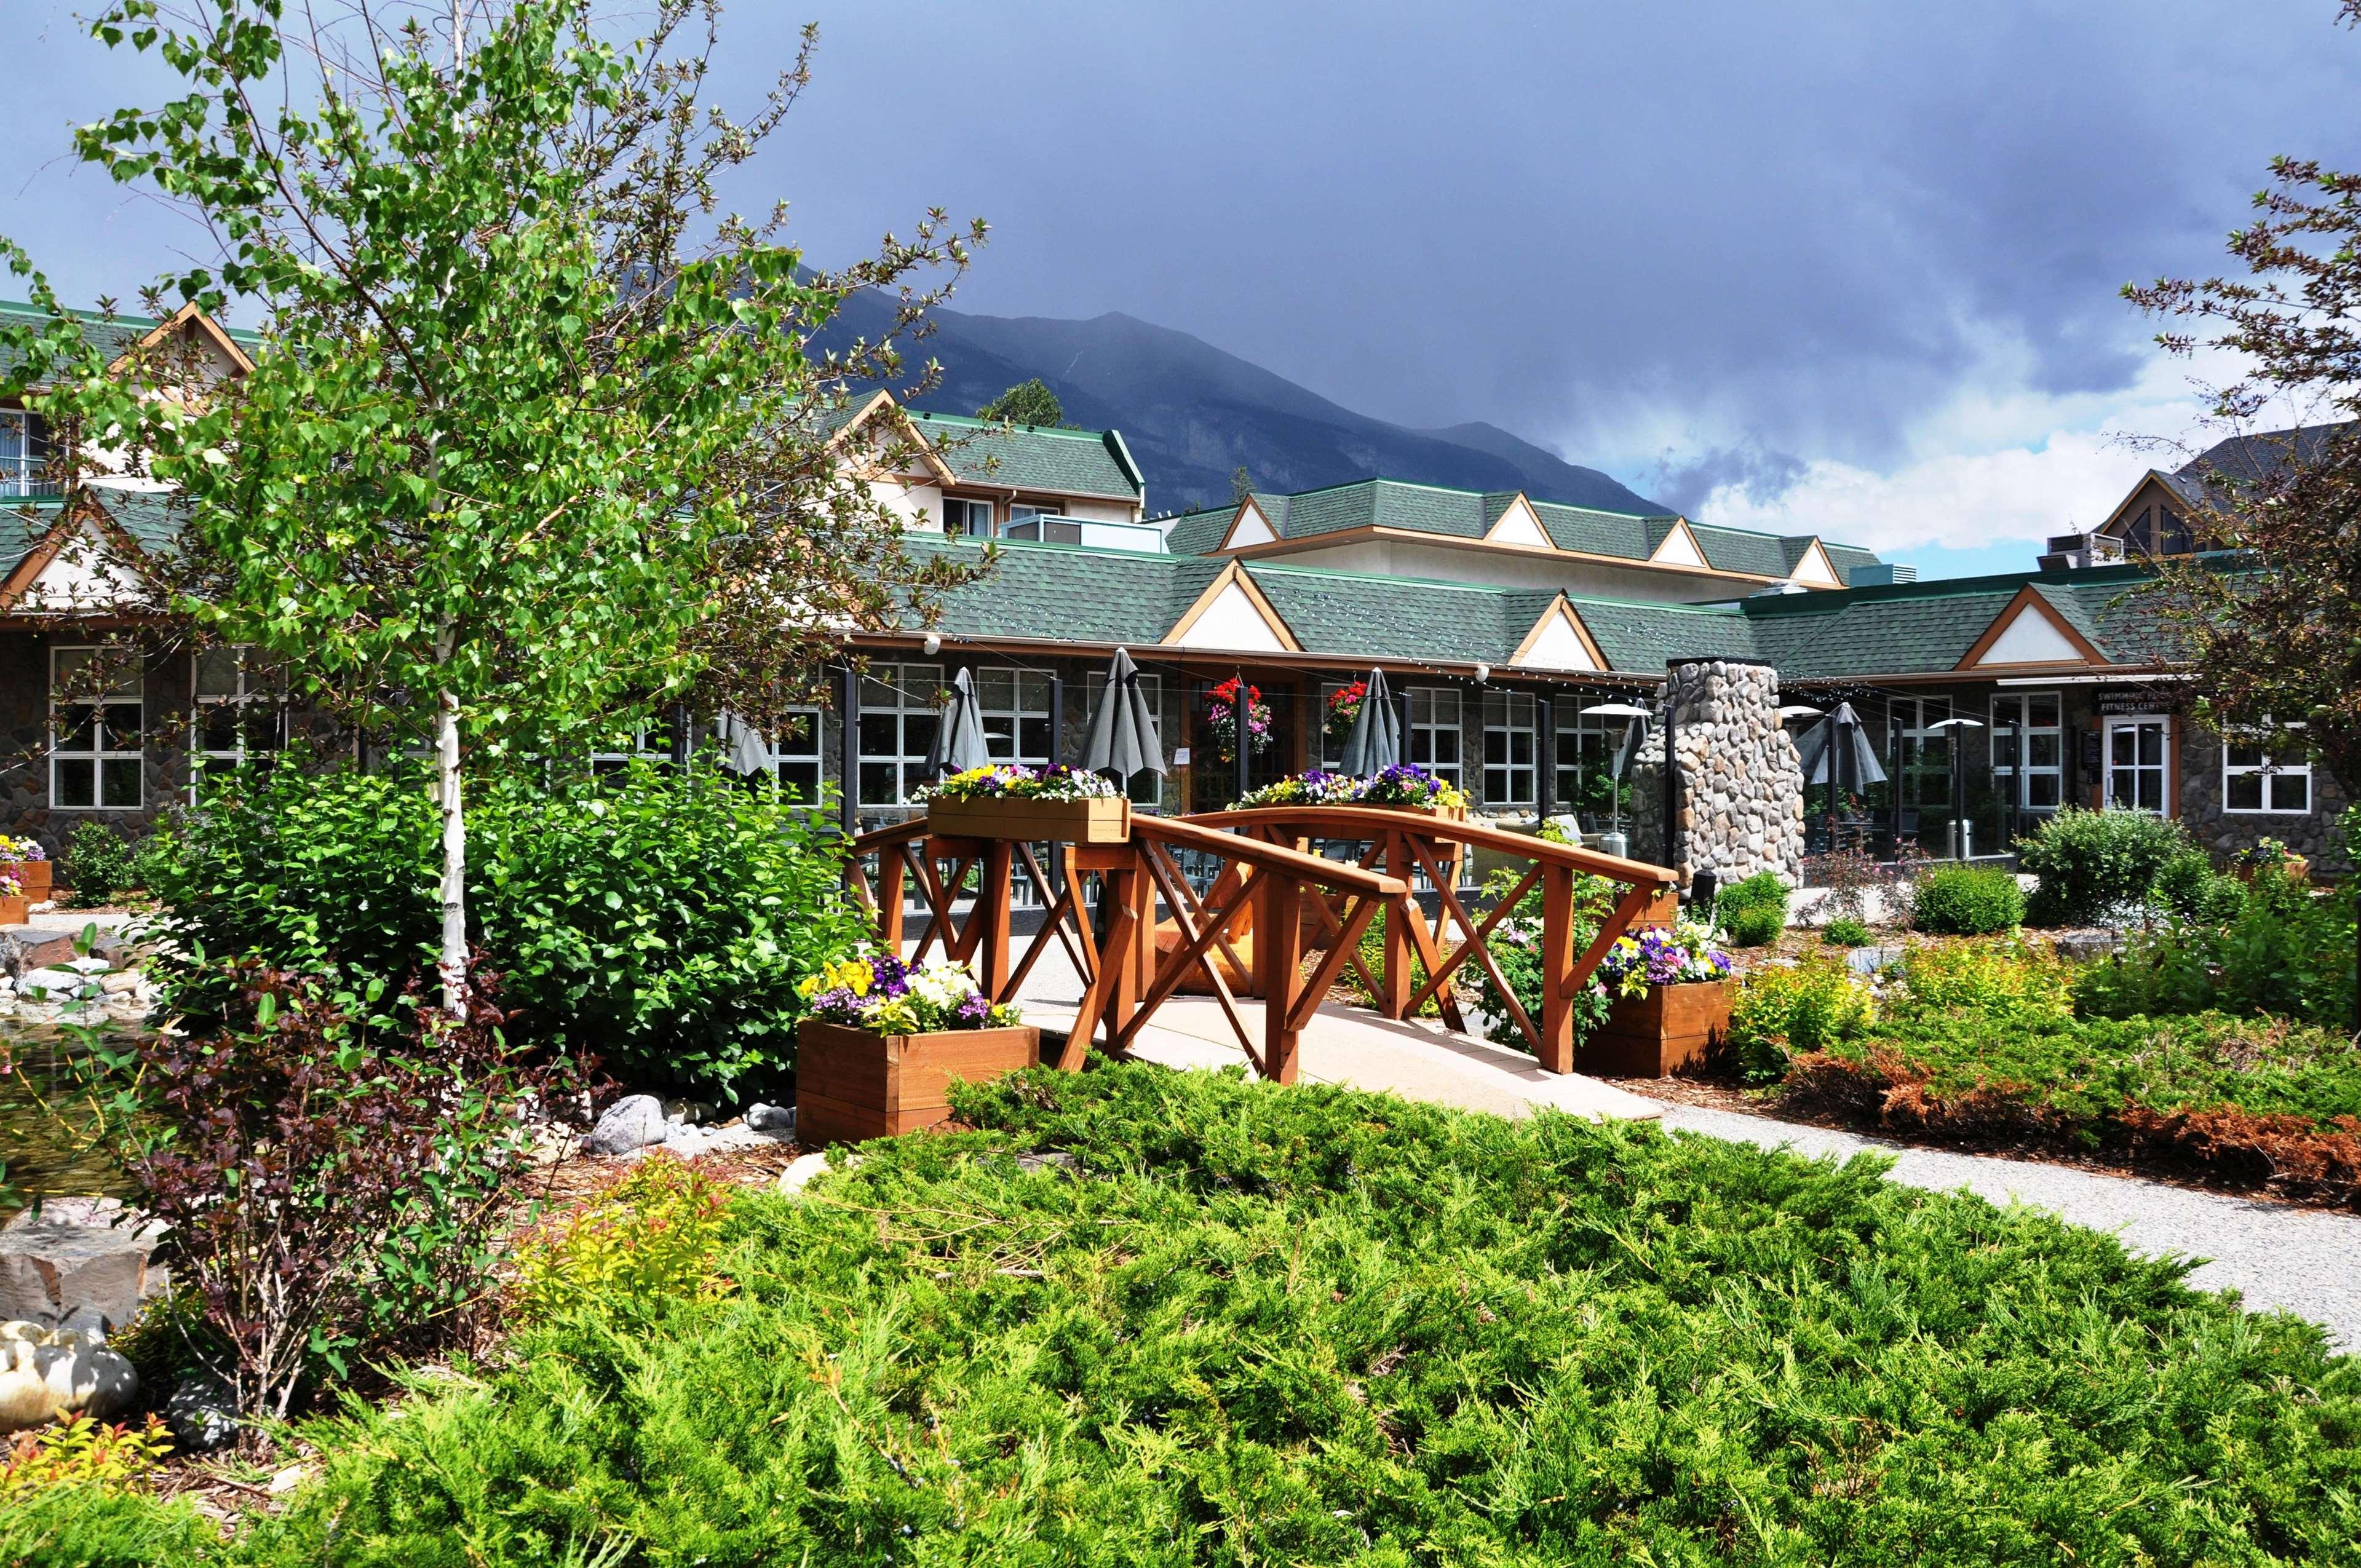
[{"label": "wooden planter with its yellow, white and purple flowers, left of bridge foot", "polygon": [[992,1006],[966,963],[921,971],[869,956],[803,982],[796,1025],[796,1138],[900,1138],[951,1117],[951,1079],[985,1084],[1041,1060],[1041,1030]]}]

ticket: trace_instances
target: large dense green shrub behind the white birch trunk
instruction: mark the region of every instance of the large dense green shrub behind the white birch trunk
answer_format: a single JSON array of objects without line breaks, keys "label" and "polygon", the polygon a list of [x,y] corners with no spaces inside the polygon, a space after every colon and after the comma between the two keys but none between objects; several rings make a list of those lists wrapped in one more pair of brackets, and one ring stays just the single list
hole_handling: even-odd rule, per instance
[{"label": "large dense green shrub behind the white birch trunk", "polygon": [[[434,954],[442,850],[418,772],[241,770],[170,831],[158,867],[182,947],[347,973],[411,973]],[[647,765],[482,779],[467,914],[512,1034],[722,1100],[784,1089],[796,982],[869,935],[807,812]]]}]

